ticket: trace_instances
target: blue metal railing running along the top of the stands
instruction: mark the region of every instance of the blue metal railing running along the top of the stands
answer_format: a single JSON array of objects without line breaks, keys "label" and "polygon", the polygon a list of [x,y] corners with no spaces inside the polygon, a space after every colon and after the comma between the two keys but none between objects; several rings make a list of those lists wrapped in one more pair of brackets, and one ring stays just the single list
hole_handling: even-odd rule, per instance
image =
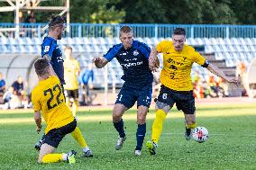
[{"label": "blue metal railing running along the top of the stands", "polygon": [[[128,23],[127,23],[128,24]],[[0,36],[42,37],[47,23],[0,23]],[[123,24],[70,23],[66,37],[118,37]],[[135,37],[166,38],[177,27],[187,31],[187,38],[256,38],[256,25],[215,24],[128,24]]]}]

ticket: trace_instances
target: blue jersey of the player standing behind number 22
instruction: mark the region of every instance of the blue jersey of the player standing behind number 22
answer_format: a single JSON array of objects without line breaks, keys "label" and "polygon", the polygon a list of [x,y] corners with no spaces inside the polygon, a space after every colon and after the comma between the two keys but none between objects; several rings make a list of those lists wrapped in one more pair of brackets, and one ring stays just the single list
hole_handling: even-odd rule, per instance
[{"label": "blue jersey of the player standing behind number 22", "polygon": [[59,81],[62,85],[65,85],[64,80],[64,67],[62,52],[57,45],[57,40],[51,37],[45,37],[41,44],[41,57],[48,54],[50,56],[50,64],[53,67],[56,75],[59,77]]}]

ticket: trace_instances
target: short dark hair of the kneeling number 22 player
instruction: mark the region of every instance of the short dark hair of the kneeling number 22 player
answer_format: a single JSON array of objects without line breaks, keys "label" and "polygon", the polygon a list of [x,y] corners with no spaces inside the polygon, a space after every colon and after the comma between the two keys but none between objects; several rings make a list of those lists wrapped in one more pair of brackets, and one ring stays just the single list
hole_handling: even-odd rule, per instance
[{"label": "short dark hair of the kneeling number 22 player", "polygon": [[43,56],[43,58],[38,58],[34,64],[35,72],[38,76],[43,76],[48,73],[48,69],[50,67],[49,60]]}]

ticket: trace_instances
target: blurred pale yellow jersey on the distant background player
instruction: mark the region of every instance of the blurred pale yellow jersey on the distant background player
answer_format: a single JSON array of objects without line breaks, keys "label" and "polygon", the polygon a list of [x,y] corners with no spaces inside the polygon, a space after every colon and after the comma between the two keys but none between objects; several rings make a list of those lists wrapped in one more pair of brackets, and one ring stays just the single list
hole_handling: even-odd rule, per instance
[{"label": "blurred pale yellow jersey on the distant background player", "polygon": [[80,71],[79,63],[77,59],[65,59],[64,60],[64,79],[66,90],[78,89],[78,71]]}]

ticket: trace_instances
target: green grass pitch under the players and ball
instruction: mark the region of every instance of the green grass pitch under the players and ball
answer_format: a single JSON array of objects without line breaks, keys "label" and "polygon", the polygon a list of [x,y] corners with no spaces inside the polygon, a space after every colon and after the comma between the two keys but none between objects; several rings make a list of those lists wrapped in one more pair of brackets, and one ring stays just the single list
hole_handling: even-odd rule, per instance
[{"label": "green grass pitch under the players and ball", "polygon": [[[154,112],[148,114],[147,135],[151,137]],[[94,152],[92,158],[77,157],[77,163],[38,165],[33,145],[41,138],[35,132],[32,112],[0,112],[0,169],[256,169],[256,104],[219,103],[197,106],[197,124],[209,131],[209,140],[199,144],[186,141],[182,112],[171,112],[164,124],[157,156],[151,157],[145,147],[135,157],[135,110],[126,112],[123,120],[127,140],[115,151],[117,133],[111,110],[78,112],[78,126]],[[82,154],[71,138],[65,137],[57,152],[71,149]]]}]

